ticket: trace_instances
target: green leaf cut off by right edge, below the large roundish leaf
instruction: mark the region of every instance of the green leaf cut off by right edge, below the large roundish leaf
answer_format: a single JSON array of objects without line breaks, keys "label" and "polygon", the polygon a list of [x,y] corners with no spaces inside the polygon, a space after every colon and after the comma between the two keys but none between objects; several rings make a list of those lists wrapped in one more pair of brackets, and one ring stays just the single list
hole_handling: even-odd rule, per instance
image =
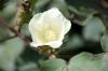
[{"label": "green leaf cut off by right edge, below the large roundish leaf", "polygon": [[100,44],[104,52],[108,52],[108,36],[103,36],[100,38]]}]

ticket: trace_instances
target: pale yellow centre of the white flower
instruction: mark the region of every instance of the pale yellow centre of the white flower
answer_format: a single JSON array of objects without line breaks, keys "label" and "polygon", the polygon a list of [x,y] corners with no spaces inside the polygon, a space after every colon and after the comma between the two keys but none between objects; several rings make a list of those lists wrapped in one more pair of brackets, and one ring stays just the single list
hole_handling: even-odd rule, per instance
[{"label": "pale yellow centre of the white flower", "polygon": [[44,39],[49,42],[49,41],[54,41],[57,39],[57,34],[53,31],[53,30],[49,30],[45,32],[44,34]]}]

